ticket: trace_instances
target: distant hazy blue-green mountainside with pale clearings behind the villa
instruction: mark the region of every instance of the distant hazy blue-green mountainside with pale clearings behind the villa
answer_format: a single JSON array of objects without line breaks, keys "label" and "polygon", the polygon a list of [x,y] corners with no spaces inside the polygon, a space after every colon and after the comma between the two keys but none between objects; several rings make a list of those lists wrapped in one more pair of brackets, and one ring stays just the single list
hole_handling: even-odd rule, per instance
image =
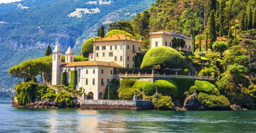
[{"label": "distant hazy blue-green mountainside with pale clearings behind the villa", "polygon": [[[47,45],[70,45],[80,54],[83,42],[97,29],[118,20],[130,20],[154,0],[23,0],[0,4],[0,88],[13,88],[8,69],[41,57]],[[64,52],[64,51],[63,51]]]}]

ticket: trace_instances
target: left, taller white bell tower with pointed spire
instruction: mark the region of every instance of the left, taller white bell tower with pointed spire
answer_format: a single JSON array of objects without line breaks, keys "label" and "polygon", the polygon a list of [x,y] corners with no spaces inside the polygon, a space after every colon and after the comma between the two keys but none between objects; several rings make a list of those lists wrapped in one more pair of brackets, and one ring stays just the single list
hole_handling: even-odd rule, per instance
[{"label": "left, taller white bell tower with pointed spire", "polygon": [[59,44],[53,50],[52,85],[60,85],[61,51]]}]

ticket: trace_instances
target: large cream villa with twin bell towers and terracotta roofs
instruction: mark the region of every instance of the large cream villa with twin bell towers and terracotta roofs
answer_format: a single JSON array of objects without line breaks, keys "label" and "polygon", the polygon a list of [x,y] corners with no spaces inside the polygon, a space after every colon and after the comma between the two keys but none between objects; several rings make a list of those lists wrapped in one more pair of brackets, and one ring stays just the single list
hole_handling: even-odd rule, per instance
[{"label": "large cream villa with twin bell towers and terracotta roofs", "polygon": [[89,61],[74,62],[71,47],[66,52],[65,62],[61,62],[61,51],[56,45],[53,50],[52,84],[60,85],[61,72],[67,72],[68,83],[72,70],[77,71],[77,84],[91,99],[103,99],[103,93],[114,74],[125,73],[134,69],[134,58],[141,51],[141,40],[118,34],[94,41],[94,53],[89,54]]}]

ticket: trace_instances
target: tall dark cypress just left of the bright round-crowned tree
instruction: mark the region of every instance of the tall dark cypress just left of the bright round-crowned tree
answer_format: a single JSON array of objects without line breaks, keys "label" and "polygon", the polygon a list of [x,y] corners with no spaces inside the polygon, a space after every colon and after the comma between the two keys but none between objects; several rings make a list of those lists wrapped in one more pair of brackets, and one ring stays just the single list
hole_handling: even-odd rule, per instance
[{"label": "tall dark cypress just left of the bright round-crowned tree", "polygon": [[213,42],[216,41],[216,27],[215,27],[215,19],[214,19],[214,10],[211,11],[209,16],[209,39],[210,39],[210,48],[212,49]]}]

